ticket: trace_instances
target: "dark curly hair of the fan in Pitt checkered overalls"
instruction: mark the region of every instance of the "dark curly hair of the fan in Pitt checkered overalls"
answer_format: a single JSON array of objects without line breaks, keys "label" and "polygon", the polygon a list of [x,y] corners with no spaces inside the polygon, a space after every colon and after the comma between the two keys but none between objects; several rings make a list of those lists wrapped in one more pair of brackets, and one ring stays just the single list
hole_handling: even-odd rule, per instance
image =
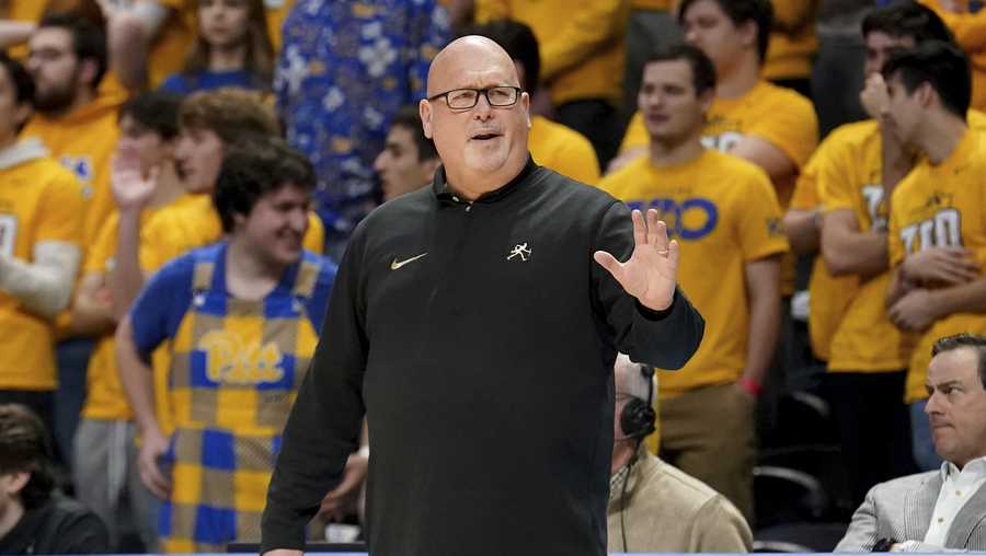
[{"label": "dark curly hair of the fan in Pitt checkered overalls", "polygon": [[314,189],[316,174],[308,158],[284,139],[254,136],[230,146],[213,190],[222,231],[232,232],[234,215],[249,216],[261,197],[287,184]]}]

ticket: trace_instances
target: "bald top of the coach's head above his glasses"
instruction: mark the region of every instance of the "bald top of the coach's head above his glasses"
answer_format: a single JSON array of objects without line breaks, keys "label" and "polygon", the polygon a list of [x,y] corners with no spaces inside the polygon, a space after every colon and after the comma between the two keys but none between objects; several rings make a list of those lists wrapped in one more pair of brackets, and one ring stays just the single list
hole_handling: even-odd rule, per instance
[{"label": "bald top of the coach's head above his glasses", "polygon": [[509,76],[507,82],[502,84],[520,86],[514,60],[500,45],[479,35],[457,38],[432,60],[432,67],[428,68],[428,96],[449,89],[475,86],[462,84],[461,80],[475,79],[480,72],[490,70],[504,71]]}]

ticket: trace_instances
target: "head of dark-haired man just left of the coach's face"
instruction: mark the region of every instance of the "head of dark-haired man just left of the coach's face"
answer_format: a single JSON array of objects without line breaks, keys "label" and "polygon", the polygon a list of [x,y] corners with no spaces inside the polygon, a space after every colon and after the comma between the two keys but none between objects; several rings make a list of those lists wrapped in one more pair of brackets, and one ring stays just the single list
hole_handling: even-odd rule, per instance
[{"label": "head of dark-haired man just left of the coach's face", "polygon": [[383,200],[415,192],[432,183],[442,164],[435,143],[425,137],[417,106],[398,111],[390,123],[383,150],[374,161]]}]

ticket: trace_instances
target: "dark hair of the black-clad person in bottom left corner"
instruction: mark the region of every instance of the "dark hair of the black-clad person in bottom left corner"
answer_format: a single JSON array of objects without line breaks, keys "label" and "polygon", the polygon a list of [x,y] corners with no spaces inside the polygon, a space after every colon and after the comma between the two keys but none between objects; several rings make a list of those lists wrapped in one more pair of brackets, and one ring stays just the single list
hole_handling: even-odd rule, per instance
[{"label": "dark hair of the black-clad person in bottom left corner", "polygon": [[21,503],[37,508],[51,495],[51,449],[44,422],[21,404],[0,405],[0,473],[30,473],[21,489]]}]

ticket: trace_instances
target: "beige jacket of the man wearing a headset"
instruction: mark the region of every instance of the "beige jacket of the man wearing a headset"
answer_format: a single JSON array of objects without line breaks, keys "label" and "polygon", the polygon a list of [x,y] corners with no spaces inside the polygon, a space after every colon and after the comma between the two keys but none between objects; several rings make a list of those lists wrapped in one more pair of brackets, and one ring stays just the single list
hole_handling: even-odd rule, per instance
[{"label": "beige jacket of the man wearing a headset", "polygon": [[[749,525],[722,495],[646,450],[606,511],[609,552],[748,552]],[[620,523],[620,510],[626,530]],[[626,533],[627,546],[623,546]]]}]

